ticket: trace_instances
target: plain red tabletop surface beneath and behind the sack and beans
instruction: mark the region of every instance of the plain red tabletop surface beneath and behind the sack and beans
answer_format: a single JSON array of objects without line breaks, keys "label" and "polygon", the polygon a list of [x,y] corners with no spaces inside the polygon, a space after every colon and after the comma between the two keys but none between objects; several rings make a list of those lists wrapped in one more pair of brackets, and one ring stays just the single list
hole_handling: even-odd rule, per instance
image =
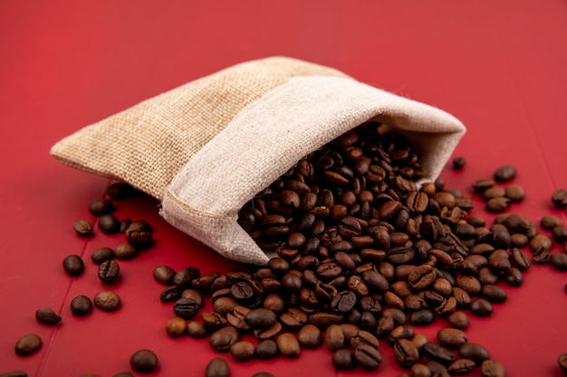
[{"label": "plain red tabletop surface beneath and behind the sack and beans", "polygon": [[[109,182],[60,165],[49,148],[80,127],[236,62],[289,55],[446,109],[468,127],[455,153],[466,157],[466,169],[447,168],[447,186],[470,196],[474,180],[513,164],[514,183],[527,198],[510,212],[567,221],[550,201],[554,190],[567,187],[565,2],[199,3],[0,2],[0,372],[111,376],[130,369],[131,353],[150,348],[160,360],[153,375],[203,375],[215,353],[207,341],[166,335],[172,313],[159,302],[162,287],[151,272],[159,264],[226,271],[235,263],[162,221],[156,201],[120,202],[119,217],[155,226],[156,246],[122,263],[114,287],[123,299],[120,311],[72,316],[72,297],[104,288],[91,251],[121,238],[97,231],[85,241],[74,234],[72,223],[88,218],[88,203]],[[474,213],[494,217],[477,198],[476,204]],[[71,253],[85,257],[81,278],[62,271]],[[567,352],[566,282],[565,273],[533,266],[522,287],[507,288],[508,300],[493,316],[472,319],[469,340],[485,344],[508,376],[561,375],[556,358]],[[45,306],[61,312],[61,325],[35,322],[35,309]],[[439,325],[419,331],[433,336]],[[43,348],[17,357],[14,344],[27,333],[41,335]],[[380,348],[380,375],[402,372],[389,347]],[[232,365],[235,377],[261,370],[367,374],[333,372],[325,349],[293,361]]]}]

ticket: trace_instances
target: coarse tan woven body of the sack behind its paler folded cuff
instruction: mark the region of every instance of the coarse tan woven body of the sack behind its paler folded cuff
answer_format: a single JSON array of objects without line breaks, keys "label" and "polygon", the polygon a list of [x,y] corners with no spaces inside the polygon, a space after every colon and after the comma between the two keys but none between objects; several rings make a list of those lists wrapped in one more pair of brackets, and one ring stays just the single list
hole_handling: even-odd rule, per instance
[{"label": "coarse tan woven body of the sack behind its paler folded cuff", "polygon": [[121,179],[160,199],[175,174],[246,105],[297,76],[341,71],[287,57],[246,61],[188,82],[63,138],[63,164]]}]

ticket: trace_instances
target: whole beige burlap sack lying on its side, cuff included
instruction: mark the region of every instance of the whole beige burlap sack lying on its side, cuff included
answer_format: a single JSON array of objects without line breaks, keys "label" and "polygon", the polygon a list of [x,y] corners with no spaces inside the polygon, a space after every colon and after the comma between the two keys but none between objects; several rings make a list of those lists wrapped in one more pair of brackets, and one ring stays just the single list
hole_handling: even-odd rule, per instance
[{"label": "whole beige burlap sack lying on its side, cuff included", "polygon": [[270,256],[238,225],[242,206],[303,156],[370,119],[405,134],[428,179],[465,127],[440,109],[291,58],[248,61],[63,138],[62,163],[126,181],[161,215],[226,258]]}]

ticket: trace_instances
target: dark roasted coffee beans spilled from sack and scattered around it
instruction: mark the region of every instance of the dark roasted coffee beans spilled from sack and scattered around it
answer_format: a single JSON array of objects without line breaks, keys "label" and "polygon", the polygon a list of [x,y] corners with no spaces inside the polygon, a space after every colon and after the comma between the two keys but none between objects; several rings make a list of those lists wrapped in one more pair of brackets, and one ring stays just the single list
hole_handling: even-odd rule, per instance
[{"label": "dark roasted coffee beans spilled from sack and scattered around it", "polygon": [[[455,169],[466,165],[463,157]],[[524,190],[511,184],[517,172],[503,165],[472,189],[488,212],[499,213],[493,224],[469,216],[473,200],[426,176],[406,137],[385,132],[378,123],[357,127],[298,161],[274,184],[241,209],[238,222],[258,246],[276,255],[267,266],[247,266],[226,273],[202,273],[197,267],[158,266],[153,278],[166,287],[159,295],[170,303],[165,325],[171,337],[208,338],[217,353],[237,363],[297,358],[303,349],[325,347],[338,370],[374,371],[383,347],[408,371],[404,375],[447,376],[477,370],[483,376],[504,376],[501,363],[464,332],[470,316],[491,316],[507,299],[505,286],[519,287],[532,263],[549,262],[567,270],[567,254],[552,252],[553,242],[567,248],[567,230],[556,216],[537,224],[509,212],[524,200]],[[120,259],[136,258],[153,245],[146,221],[119,220],[112,200],[136,193],[128,184],[111,184],[110,199],[89,205],[98,228],[123,233],[115,248],[94,250],[98,278],[105,286],[120,279]],[[564,190],[552,195],[565,206]],[[81,237],[93,236],[93,225],[73,224]],[[567,251],[567,250],[566,250]],[[85,270],[80,256],[63,260],[71,277]],[[205,310],[209,301],[212,310]],[[72,299],[75,316],[93,307],[120,308],[120,297],[103,290],[95,297]],[[57,325],[50,308],[36,312],[38,323]],[[434,321],[447,326],[437,339],[418,332]],[[37,335],[24,335],[16,353],[41,347]],[[567,356],[560,355],[563,371]],[[158,357],[140,350],[130,358],[136,372],[152,372]],[[228,376],[229,363],[215,357],[206,377]],[[116,376],[131,375],[122,372]],[[268,372],[257,377],[271,376]]]}]

